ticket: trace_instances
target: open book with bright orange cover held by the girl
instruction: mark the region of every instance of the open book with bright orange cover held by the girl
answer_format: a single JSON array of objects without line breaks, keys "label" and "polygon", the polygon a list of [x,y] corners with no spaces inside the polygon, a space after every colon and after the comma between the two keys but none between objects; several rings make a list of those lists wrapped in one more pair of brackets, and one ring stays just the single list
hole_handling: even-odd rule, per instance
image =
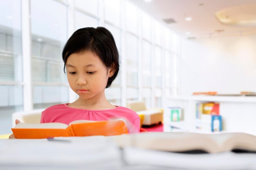
[{"label": "open book with bright orange cover held by the girl", "polygon": [[121,119],[108,121],[76,120],[72,121],[69,125],[63,123],[19,123],[11,130],[18,139],[94,135],[111,136],[128,133],[127,127]]}]

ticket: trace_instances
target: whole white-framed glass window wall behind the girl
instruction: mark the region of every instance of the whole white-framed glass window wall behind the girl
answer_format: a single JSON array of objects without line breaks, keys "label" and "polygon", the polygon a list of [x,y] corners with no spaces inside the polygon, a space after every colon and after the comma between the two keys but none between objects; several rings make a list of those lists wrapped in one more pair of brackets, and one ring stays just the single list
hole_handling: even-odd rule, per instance
[{"label": "whole white-framed glass window wall behind the girl", "polygon": [[[61,53],[70,33],[84,27],[104,25],[114,36],[121,55],[119,74],[105,91],[111,104],[122,106],[142,99],[148,108],[162,107],[164,97],[178,93],[179,37],[130,1],[29,0],[29,3],[21,6],[21,0],[2,0],[0,4],[0,134],[11,133],[11,113],[76,99],[63,72]],[[29,5],[26,18],[21,13],[26,10],[21,7]],[[30,35],[21,28],[29,19]],[[25,36],[21,36],[22,31]],[[30,37],[31,46],[22,44]],[[22,56],[30,51],[31,56]],[[31,63],[31,76],[26,73],[30,70],[27,61]],[[28,89],[32,90],[32,102],[24,96]]]}]

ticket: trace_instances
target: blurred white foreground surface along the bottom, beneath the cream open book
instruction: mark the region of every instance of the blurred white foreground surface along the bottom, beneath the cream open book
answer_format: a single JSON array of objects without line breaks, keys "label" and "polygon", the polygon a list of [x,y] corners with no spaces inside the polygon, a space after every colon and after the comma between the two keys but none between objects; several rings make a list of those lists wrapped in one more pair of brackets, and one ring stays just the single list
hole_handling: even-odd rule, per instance
[{"label": "blurred white foreground surface along the bottom, beneath the cream open book", "polygon": [[0,170],[256,170],[256,154],[120,149],[103,136],[55,139],[1,139]]}]

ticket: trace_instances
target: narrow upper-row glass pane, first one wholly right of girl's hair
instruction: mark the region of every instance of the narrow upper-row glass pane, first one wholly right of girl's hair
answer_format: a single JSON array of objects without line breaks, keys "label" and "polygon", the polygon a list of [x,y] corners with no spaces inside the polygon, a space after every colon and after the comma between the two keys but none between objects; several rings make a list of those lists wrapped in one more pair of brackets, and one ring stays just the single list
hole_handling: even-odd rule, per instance
[{"label": "narrow upper-row glass pane, first one wholly right of girl's hair", "polygon": [[137,7],[126,1],[126,29],[132,33],[137,35],[137,24],[138,24],[138,16],[137,16]]}]

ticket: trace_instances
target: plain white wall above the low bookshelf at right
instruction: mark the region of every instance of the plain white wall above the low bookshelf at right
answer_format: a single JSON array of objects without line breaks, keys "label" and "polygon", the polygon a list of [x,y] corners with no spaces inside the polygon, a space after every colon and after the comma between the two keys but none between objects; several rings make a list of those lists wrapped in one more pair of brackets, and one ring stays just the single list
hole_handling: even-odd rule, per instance
[{"label": "plain white wall above the low bookshelf at right", "polygon": [[180,94],[256,91],[256,35],[182,40]]}]

